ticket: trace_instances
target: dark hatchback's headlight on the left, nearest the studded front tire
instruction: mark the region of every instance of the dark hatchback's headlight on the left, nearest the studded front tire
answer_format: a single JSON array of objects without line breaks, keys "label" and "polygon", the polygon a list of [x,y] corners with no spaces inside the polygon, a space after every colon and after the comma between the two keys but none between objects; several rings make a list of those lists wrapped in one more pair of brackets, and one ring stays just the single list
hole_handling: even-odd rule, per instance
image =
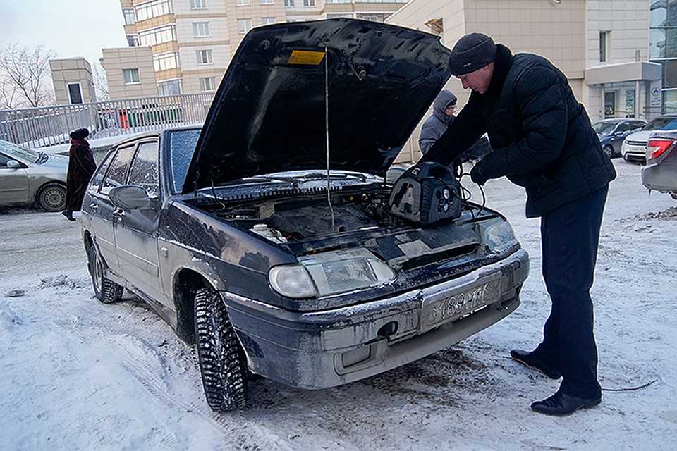
[{"label": "dark hatchback's headlight on the left, nearest the studded front tire", "polygon": [[[395,277],[392,269],[367,249],[322,252],[298,261],[298,265],[276,266],[269,273],[270,284],[283,296],[336,295],[383,285]],[[310,287],[314,290],[311,295]]]}]

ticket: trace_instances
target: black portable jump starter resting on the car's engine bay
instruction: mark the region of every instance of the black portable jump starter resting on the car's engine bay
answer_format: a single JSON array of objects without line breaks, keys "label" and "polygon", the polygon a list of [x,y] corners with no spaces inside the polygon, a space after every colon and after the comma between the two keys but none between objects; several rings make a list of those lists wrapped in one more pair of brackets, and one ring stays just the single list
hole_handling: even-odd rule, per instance
[{"label": "black portable jump starter resting on the car's engine bay", "polygon": [[461,216],[461,185],[446,166],[419,163],[398,178],[388,206],[394,216],[424,227],[456,219]]}]

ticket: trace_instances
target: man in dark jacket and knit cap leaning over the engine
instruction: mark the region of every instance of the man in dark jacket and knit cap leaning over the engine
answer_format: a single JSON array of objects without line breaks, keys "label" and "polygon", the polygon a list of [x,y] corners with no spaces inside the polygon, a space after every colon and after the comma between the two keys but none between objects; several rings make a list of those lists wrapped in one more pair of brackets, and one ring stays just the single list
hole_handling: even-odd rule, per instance
[{"label": "man in dark jacket and knit cap leaning over the engine", "polygon": [[547,59],[513,56],[487,35],[472,33],[453,47],[450,64],[472,94],[422,161],[449,164],[489,133],[494,150],[472,168],[471,178],[484,185],[507,176],[525,187],[527,217],[541,217],[543,277],[552,300],[543,341],[511,357],[563,377],[554,395],[532,404],[535,411],[563,415],[597,405],[602,391],[590,288],[614,166],[566,76]]}]

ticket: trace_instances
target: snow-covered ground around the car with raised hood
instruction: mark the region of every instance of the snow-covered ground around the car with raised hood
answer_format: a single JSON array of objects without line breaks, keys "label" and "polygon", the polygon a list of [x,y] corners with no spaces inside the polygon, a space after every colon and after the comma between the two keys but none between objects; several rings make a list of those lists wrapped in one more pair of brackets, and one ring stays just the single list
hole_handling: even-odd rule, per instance
[{"label": "snow-covered ground around the car with raised hood", "polygon": [[487,185],[488,204],[532,257],[515,314],[341,388],[254,381],[233,414],[209,410],[193,351],[142,302],[94,299],[79,223],[0,210],[0,450],[674,450],[677,202],[649,197],[640,166],[616,167],[592,290],[599,378],[656,382],[566,418],[530,411],[558,383],[507,358],[537,344],[549,299],[539,221],[506,180]]}]

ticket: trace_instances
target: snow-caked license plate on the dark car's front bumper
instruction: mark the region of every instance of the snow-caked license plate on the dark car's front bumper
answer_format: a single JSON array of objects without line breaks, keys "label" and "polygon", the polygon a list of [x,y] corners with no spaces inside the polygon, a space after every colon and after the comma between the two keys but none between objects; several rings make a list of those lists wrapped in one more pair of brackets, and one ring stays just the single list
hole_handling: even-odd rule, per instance
[{"label": "snow-caked license plate on the dark car's front bumper", "polygon": [[442,323],[454,321],[499,300],[501,276],[485,279],[449,297],[426,304],[423,301],[422,329],[428,330]]}]

